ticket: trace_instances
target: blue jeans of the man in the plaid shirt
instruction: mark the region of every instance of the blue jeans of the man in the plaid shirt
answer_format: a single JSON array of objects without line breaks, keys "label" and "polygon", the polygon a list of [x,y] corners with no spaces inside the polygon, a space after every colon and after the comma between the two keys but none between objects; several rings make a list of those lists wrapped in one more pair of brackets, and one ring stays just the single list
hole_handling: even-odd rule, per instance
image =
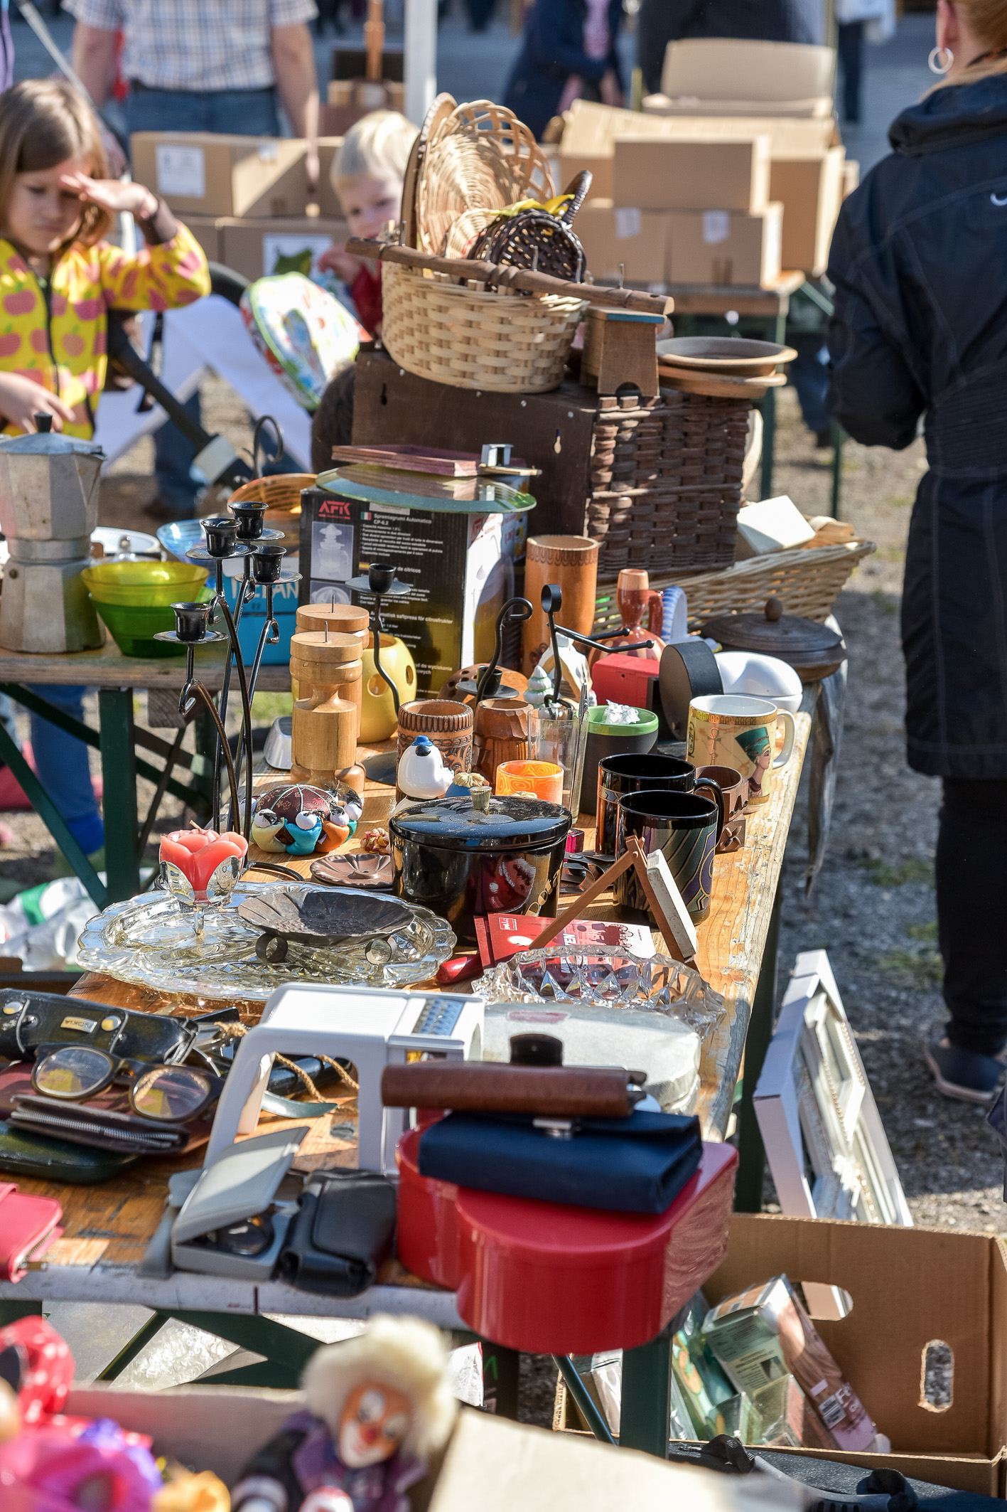
[{"label": "blue jeans of the man in the plaid shirt", "polygon": [[[133,132],[222,132],[237,127],[246,136],[279,136],[275,89],[222,89],[196,94],[189,89],[146,89],[133,85],[125,103],[125,121]],[[149,187],[157,187],[149,186]],[[201,423],[199,393],[186,401],[186,414]],[[196,451],[171,420],[154,437],[154,472],[165,508],[189,519],[196,513],[199,481],[192,475]]]}]

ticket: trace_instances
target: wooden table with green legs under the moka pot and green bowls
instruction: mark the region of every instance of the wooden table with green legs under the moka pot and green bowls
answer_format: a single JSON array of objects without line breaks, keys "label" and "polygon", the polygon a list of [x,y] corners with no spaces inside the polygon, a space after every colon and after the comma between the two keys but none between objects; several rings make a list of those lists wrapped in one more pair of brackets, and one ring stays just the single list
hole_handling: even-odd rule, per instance
[{"label": "wooden table with green legs under the moka pot and green bowls", "polygon": [[[220,644],[207,646],[196,653],[196,676],[210,692],[219,691],[223,680],[223,647]],[[106,641],[100,650],[56,655],[9,652],[0,647],[0,691],[9,694],[15,703],[32,714],[51,720],[53,724],[101,751],[107,877],[104,888],[69,835],[45,788],[24,761],[8,730],[0,726],[0,759],[8,764],[24,788],[32,807],[45,821],[45,827],[59,850],[69,860],[75,875],[80,877],[98,907],[118,903],[121,898],[131,898],[140,888],[143,847],[139,842],[145,838],[143,832],[149,829],[151,813],[148,813],[146,823],[139,823],[137,776],[146,777],[156,785],[154,810],[165,792],[171,792],[183,803],[208,806],[208,765],[199,754],[199,738],[196,739],[196,754],[183,758],[184,729],[178,729],[175,738],[168,741],[137,726],[133,712],[133,696],[137,689],[145,688],[148,692],[160,691],[177,696],[181,692],[184,680],[184,655],[149,659],[124,656],[112,640]],[[97,689],[98,729],[71,718],[65,709],[54,706],[45,697],[47,686],[66,683]],[[288,668],[285,665],[263,667],[258,688],[261,691],[288,691]],[[202,744],[204,748],[210,748],[208,744]],[[162,765],[159,767],[148,759],[151,756],[159,758]],[[184,762],[193,779],[190,785],[174,776],[174,768],[180,762]]]}]

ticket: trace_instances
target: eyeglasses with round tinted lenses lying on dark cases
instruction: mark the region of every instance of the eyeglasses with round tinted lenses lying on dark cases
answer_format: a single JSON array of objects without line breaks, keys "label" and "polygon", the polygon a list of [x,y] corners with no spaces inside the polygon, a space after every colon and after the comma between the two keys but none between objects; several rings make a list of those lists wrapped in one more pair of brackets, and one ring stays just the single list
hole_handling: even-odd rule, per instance
[{"label": "eyeglasses with round tinted lenses lying on dark cases", "polygon": [[42,1046],[32,1087],[44,1098],[86,1102],[113,1083],[127,1083],[130,1107],[156,1123],[187,1123],[213,1102],[220,1077],[196,1066],[146,1066],[110,1055],[94,1045]]}]

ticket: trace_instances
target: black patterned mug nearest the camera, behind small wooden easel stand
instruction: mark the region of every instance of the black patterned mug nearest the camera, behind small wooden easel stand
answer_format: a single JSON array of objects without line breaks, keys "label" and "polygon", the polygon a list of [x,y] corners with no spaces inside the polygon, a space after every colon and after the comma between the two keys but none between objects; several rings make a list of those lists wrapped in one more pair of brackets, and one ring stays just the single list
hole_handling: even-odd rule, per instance
[{"label": "black patterned mug nearest the camera, behind small wooden easel stand", "polygon": [[[634,835],[648,856],[663,851],[682,903],[693,922],[710,913],[713,892],[713,857],[726,821],[725,798],[710,779],[704,786],[714,789],[716,801],[694,792],[637,792],[619,800],[616,854],[622,856]],[[616,878],[616,903],[627,909],[648,910],[646,895],[630,868]]]}]

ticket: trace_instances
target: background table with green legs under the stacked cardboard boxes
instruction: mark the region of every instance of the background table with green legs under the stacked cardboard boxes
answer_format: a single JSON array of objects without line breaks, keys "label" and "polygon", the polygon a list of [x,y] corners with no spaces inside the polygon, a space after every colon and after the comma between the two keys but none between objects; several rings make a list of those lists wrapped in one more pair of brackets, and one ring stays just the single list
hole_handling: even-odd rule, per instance
[{"label": "background table with green legs under the stacked cardboard boxes", "polygon": [[[649,287],[649,286],[648,286]],[[660,292],[675,301],[675,334],[687,336],[694,321],[737,314],[744,333],[761,336],[762,340],[787,343],[787,316],[794,298],[812,304],[823,321],[832,316],[832,301],[802,272],[782,272],[770,289],[749,284],[661,284]],[[761,497],[773,497],[773,467],[776,461],[776,389],[768,389],[761,401],[762,411],[762,475]],[[842,443],[845,435],[835,422],[832,425],[832,514],[839,516],[839,491],[842,484]]]}]

